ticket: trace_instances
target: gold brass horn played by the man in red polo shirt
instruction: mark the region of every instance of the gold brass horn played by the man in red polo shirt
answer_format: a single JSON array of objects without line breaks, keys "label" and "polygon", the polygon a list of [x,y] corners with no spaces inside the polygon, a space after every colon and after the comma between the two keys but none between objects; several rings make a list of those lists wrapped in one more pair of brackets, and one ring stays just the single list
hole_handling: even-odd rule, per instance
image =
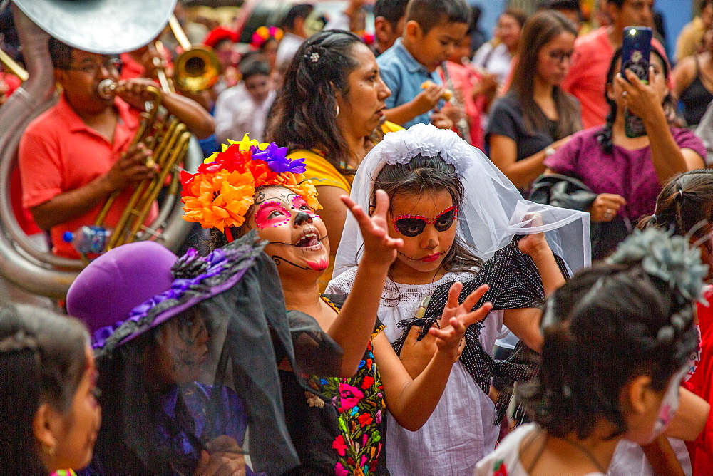
[{"label": "gold brass horn played by the man in red polo shirt", "polygon": [[[97,86],[97,93],[103,98],[111,98],[118,91],[120,91],[120,86],[111,79],[104,79]],[[161,92],[155,86],[148,86],[147,91],[151,95],[151,99],[147,101],[146,112],[141,113],[141,123],[131,146],[143,143],[146,148],[152,150],[153,158],[147,160],[146,167],[158,170],[158,172],[153,178],[142,180],[136,185],[126,208],[113,229],[106,245],[106,251],[140,239],[142,233],[148,232],[158,236],[155,230],[148,229],[143,223],[169,175],[171,175],[170,191],[178,190],[178,174],[174,172],[175,166],[183,160],[188,152],[190,133],[186,130],[185,124],[173,117],[160,120],[158,110],[161,103]],[[106,227],[106,215],[121,192],[123,190],[118,190],[108,197],[94,222],[96,226]]]}]

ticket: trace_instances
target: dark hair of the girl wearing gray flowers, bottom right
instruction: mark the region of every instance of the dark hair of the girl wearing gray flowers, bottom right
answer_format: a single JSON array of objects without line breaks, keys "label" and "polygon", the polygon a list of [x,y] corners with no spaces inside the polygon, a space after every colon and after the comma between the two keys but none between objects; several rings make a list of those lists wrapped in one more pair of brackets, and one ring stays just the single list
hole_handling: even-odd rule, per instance
[{"label": "dark hair of the girl wearing gray flowers, bottom right", "polygon": [[[539,375],[518,388],[520,398],[555,437],[586,438],[602,418],[616,427],[610,438],[621,435],[622,388],[642,375],[654,390],[666,388],[697,345],[693,312],[694,303],[641,262],[583,271],[545,304]],[[673,338],[658,338],[664,326]]]}]

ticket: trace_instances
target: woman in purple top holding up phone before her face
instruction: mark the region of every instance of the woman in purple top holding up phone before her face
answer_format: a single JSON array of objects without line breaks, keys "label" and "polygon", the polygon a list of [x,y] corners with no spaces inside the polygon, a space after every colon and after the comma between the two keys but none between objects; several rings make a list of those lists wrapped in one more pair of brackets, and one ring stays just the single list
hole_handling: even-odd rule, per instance
[{"label": "woman in purple top holding up phone before her face", "polygon": [[[702,141],[674,126],[667,61],[652,49],[645,84],[632,71],[625,71],[626,78],[619,73],[621,57],[620,48],[607,73],[607,123],[575,133],[545,159],[545,174],[574,177],[584,186],[576,190],[577,200],[557,205],[590,212],[592,222],[600,224],[593,229],[593,259],[607,256],[631,232],[632,222],[654,212],[656,197],[671,177],[704,167]],[[627,136],[625,110],[642,118],[644,135]]]}]

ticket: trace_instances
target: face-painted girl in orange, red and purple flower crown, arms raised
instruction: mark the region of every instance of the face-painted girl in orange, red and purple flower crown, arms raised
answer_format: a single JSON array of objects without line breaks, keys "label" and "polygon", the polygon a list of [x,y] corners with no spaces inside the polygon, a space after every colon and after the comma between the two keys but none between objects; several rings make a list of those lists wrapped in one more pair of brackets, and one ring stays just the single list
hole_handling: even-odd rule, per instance
[{"label": "face-painted girl in orange, red and purple flower crown, arms raised", "polygon": [[[365,237],[364,260],[349,296],[329,299],[318,288],[329,263],[329,239],[315,213],[321,208],[317,192],[303,180],[304,160],[287,159],[286,152],[275,143],[258,144],[246,136],[209,157],[195,174],[183,172],[184,217],[210,228],[214,246],[256,230],[277,265],[291,319],[317,321],[343,349],[332,375],[303,376],[299,361],[297,368],[288,361],[280,365],[287,426],[301,462],[291,474],[382,472],[384,411],[388,408],[412,430],[425,423],[441,398],[467,326],[491,309],[483,304],[469,311],[487,286],[458,305],[462,286],[453,284],[441,328],[430,331],[436,352],[424,373],[411,378],[376,319],[386,272],[402,245],[386,232],[388,197],[377,192],[371,217],[344,197]],[[312,391],[299,386],[303,377]]]}]

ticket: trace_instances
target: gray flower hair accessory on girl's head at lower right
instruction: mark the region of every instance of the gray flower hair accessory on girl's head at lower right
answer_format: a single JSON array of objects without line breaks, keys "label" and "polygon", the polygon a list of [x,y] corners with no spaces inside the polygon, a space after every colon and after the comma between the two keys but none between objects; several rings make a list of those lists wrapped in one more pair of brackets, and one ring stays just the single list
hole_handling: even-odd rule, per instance
[{"label": "gray flower hair accessory on girl's head at lower right", "polygon": [[691,247],[688,238],[656,227],[635,230],[607,259],[611,264],[641,262],[647,274],[667,281],[671,289],[692,301],[708,304],[703,297],[708,265],[701,262],[701,251]]}]

